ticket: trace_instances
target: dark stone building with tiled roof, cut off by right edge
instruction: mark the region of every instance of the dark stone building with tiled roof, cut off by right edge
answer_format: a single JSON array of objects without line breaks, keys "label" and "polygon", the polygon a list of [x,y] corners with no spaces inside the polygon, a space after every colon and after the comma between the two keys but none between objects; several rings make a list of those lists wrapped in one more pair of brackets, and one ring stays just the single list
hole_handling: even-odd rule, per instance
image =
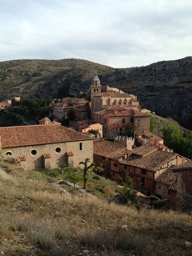
[{"label": "dark stone building with tiled roof, cut off by right edge", "polygon": [[173,172],[177,173],[175,207],[179,211],[192,212],[192,160],[175,166]]}]

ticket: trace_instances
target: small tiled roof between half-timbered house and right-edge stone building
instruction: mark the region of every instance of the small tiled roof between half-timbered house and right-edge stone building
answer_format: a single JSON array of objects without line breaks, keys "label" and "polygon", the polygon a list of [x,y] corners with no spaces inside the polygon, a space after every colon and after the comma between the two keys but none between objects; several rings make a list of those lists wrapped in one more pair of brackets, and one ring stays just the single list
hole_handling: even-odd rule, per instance
[{"label": "small tiled roof between half-timbered house and right-edge stone building", "polygon": [[177,177],[177,173],[173,173],[173,167],[175,167],[175,165],[172,165],[166,169],[166,171],[160,174],[155,181],[167,186],[171,186]]}]

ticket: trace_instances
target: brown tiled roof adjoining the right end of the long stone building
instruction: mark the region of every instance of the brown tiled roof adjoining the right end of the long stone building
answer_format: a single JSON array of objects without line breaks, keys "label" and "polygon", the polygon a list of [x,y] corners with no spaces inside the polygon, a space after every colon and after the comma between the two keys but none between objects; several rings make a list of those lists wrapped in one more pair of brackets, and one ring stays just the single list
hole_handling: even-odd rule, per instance
[{"label": "brown tiled roof adjoining the right end of the long stone building", "polygon": [[104,139],[97,139],[93,142],[93,153],[99,156],[115,159],[124,156],[126,146],[119,145]]}]

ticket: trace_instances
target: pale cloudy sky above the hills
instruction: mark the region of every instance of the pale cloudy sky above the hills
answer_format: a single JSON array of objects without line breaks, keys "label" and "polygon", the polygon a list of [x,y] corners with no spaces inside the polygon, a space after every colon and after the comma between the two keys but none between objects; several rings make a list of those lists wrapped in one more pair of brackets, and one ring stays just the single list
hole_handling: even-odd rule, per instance
[{"label": "pale cloudy sky above the hills", "polygon": [[0,61],[114,68],[192,55],[192,0],[0,0]]}]

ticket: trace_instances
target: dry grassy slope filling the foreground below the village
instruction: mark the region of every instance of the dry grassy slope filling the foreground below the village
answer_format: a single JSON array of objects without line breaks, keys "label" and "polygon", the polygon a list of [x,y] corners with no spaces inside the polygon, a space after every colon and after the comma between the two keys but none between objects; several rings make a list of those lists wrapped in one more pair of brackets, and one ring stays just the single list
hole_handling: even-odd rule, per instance
[{"label": "dry grassy slope filling the foreground below the village", "polygon": [[[3,161],[1,165],[7,166]],[[191,255],[185,247],[185,241],[192,240],[187,214],[137,211],[105,199],[60,194],[39,172],[6,168],[9,176],[0,176],[4,255],[76,256],[83,250],[90,256]]]}]

